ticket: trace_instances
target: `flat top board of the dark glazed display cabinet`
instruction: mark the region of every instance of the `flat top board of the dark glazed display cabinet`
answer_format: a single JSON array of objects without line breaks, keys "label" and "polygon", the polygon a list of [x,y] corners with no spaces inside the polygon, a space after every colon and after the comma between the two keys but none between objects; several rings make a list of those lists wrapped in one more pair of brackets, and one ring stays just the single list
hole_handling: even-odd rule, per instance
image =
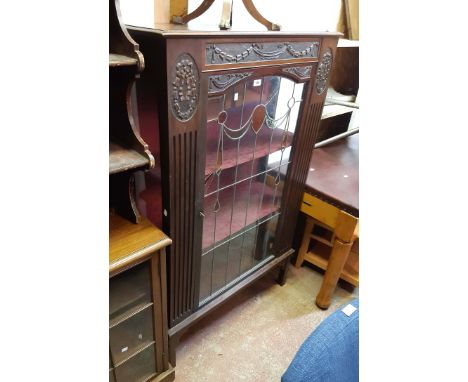
[{"label": "flat top board of the dark glazed display cabinet", "polygon": [[187,25],[152,24],[152,25],[126,25],[133,31],[149,32],[163,37],[343,37],[340,32],[324,31],[236,31],[219,30],[216,27],[205,29],[191,29]]}]

